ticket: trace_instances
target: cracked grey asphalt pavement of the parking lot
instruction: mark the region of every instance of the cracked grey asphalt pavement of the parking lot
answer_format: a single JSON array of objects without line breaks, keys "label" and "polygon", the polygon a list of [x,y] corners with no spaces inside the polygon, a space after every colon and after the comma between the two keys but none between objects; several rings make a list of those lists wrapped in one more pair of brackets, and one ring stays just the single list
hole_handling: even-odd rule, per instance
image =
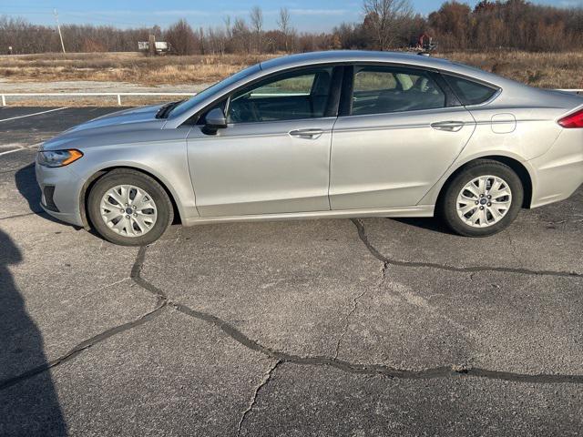
[{"label": "cracked grey asphalt pavement of the parking lot", "polygon": [[0,108],[0,435],[583,433],[583,188],[488,239],[336,219],[122,248],[40,212],[31,164],[115,108],[44,110]]}]

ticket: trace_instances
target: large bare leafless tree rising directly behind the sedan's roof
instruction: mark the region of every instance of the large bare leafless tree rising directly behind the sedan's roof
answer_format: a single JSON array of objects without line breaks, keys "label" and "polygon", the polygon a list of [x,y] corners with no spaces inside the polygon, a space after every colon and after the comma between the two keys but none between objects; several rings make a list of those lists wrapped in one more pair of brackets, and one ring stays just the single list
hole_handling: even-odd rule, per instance
[{"label": "large bare leafless tree rising directly behind the sedan's roof", "polygon": [[384,51],[394,45],[402,25],[413,15],[409,0],[364,0],[364,26]]}]

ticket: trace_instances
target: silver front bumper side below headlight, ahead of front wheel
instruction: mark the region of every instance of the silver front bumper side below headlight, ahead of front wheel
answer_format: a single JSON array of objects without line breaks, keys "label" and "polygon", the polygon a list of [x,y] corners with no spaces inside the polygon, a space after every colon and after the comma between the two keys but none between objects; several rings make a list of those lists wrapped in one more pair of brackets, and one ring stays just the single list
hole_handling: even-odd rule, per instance
[{"label": "silver front bumper side below headlight, ahead of front wheel", "polygon": [[42,194],[40,206],[46,213],[66,223],[84,226],[79,198],[85,181],[69,167],[48,168],[36,164],[35,171]]}]

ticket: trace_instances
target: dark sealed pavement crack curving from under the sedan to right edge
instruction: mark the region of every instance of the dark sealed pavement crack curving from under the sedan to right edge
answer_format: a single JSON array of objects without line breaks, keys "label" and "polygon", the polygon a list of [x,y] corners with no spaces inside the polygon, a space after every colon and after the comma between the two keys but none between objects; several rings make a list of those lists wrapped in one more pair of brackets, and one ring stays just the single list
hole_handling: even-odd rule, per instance
[{"label": "dark sealed pavement crack curving from under the sedan to right edge", "polygon": [[381,262],[385,262],[392,266],[400,267],[426,267],[429,269],[441,269],[447,271],[457,271],[457,272],[479,272],[479,271],[497,271],[502,273],[519,273],[524,275],[536,275],[536,276],[558,276],[566,278],[583,278],[583,273],[577,273],[576,271],[557,271],[557,270],[532,270],[532,269],[521,269],[512,267],[494,267],[494,266],[474,266],[474,267],[455,267],[448,266],[445,264],[438,264],[436,262],[421,262],[421,261],[402,261],[397,259],[388,259],[385,257],[378,249],[376,249],[373,244],[368,239],[366,235],[366,230],[364,229],[363,221],[360,219],[351,219],[354,226],[358,230],[358,236],[363,241],[364,246],[371,252],[374,258]]}]

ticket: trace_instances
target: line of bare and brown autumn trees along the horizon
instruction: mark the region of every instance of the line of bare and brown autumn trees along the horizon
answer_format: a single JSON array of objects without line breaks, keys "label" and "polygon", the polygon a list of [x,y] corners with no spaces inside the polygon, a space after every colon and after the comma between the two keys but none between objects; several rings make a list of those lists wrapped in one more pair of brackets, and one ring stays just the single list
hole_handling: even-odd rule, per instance
[{"label": "line of bare and brown autumn trees along the horizon", "polygon": [[[390,50],[418,44],[431,36],[442,50],[493,48],[528,51],[580,49],[583,7],[558,8],[525,0],[483,0],[474,8],[447,1],[424,16],[414,14],[409,0],[363,0],[363,20],[342,23],[330,32],[298,32],[287,8],[277,28],[266,29],[259,6],[249,16],[225,16],[222,25],[193,28],[181,19],[159,25],[118,28],[112,25],[61,25],[68,52],[136,51],[149,35],[168,41],[176,55],[306,52],[327,49]],[[33,25],[23,18],[0,16],[0,50],[15,54],[60,51],[53,26]]]}]

